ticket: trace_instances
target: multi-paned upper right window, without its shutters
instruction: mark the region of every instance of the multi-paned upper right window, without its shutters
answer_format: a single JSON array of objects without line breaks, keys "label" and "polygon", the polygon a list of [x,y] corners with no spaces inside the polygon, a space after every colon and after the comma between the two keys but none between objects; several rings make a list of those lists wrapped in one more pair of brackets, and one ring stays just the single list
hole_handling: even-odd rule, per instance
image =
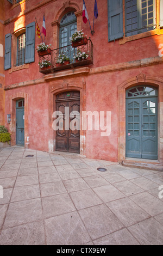
[{"label": "multi-paned upper right window, without its shutters", "polygon": [[135,35],[155,28],[155,1],[126,0],[125,1],[125,31],[126,36]]}]

